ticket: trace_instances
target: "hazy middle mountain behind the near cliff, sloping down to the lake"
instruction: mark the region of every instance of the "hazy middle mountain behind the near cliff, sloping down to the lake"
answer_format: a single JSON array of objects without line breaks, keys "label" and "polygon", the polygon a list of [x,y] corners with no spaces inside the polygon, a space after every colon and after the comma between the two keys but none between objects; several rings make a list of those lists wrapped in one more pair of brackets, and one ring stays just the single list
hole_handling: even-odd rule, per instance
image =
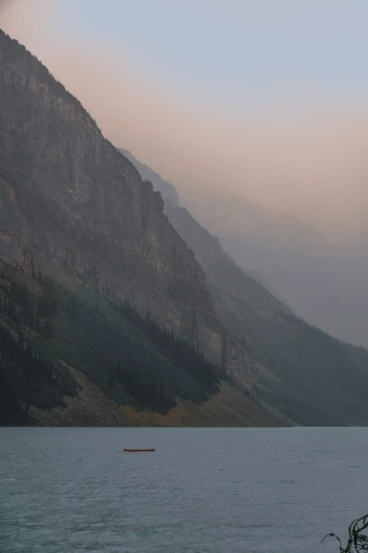
[{"label": "hazy middle mountain behind the near cliff, sloping down to the lake", "polygon": [[295,316],[237,266],[186,208],[166,201],[165,212],[207,275],[217,316],[229,333],[226,355],[233,337],[250,352],[259,404],[291,424],[365,424],[367,350]]}]

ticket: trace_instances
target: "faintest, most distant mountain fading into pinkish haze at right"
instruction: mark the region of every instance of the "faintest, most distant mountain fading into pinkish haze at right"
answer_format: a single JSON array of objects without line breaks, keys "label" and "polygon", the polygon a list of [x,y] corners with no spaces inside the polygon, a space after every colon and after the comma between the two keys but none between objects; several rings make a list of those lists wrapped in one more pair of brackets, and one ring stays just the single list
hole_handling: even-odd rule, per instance
[{"label": "faintest, most distant mountain fading into pinkish haze at right", "polygon": [[[367,256],[364,247],[354,246],[364,242],[364,232],[336,254],[311,225],[242,196],[212,196],[190,210],[240,266],[262,273],[296,313],[338,338],[368,345]],[[360,253],[352,256],[354,250]]]}]

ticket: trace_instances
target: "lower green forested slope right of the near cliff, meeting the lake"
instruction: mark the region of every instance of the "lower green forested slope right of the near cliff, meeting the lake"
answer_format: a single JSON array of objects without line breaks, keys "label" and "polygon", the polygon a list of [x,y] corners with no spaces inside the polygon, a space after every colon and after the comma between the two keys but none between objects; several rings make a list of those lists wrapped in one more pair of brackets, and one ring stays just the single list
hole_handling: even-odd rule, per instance
[{"label": "lower green forested slope right of the near cliff, meeting the lake", "polygon": [[247,336],[260,403],[304,425],[367,424],[367,350],[285,311],[256,311],[225,299],[232,328]]}]

